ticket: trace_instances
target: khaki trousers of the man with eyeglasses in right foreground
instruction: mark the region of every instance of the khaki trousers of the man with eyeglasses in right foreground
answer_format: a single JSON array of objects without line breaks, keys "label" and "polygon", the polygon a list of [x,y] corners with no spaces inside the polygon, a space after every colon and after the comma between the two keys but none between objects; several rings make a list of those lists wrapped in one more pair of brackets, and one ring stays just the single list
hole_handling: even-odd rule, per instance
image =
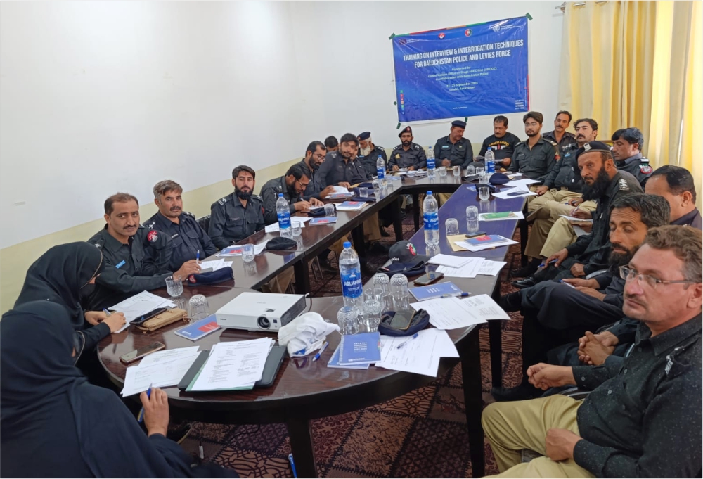
[{"label": "khaki trousers of the man with eyeglasses in right foreground", "polygon": [[538,457],[520,462],[520,451],[531,449],[546,454],[545,438],[551,428],[567,429],[579,434],[576,411],[581,401],[553,395],[529,401],[494,402],[483,411],[486,438],[496,456],[498,471],[495,478],[593,478],[572,459],[552,461]]}]

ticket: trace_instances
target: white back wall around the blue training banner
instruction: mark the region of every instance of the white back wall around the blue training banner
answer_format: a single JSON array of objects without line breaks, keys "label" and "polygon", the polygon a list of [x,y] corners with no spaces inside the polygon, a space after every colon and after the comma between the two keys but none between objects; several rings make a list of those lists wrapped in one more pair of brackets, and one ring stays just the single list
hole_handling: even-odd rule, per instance
[{"label": "white back wall around the blue training banner", "polygon": [[[561,55],[561,1],[295,1],[291,3],[295,53],[307,129],[322,138],[370,131],[374,142],[392,147],[398,139],[393,51],[388,37],[470,25],[530,13],[530,106],[553,129]],[[508,116],[509,131],[524,138],[524,113]],[[493,133],[493,115],[470,117],[465,136],[474,143]],[[463,120],[463,118],[461,118]],[[412,124],[415,142],[434,145],[449,123]],[[477,151],[475,153],[478,153]]]}]

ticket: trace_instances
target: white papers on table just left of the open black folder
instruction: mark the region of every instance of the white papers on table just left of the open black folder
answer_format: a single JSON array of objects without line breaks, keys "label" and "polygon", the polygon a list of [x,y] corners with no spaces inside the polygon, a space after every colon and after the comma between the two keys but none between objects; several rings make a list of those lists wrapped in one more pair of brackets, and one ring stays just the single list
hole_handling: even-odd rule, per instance
[{"label": "white papers on table just left of the open black folder", "polygon": [[150,385],[154,388],[165,388],[178,384],[198,354],[198,346],[153,352],[136,366],[127,368],[122,396],[146,391]]}]

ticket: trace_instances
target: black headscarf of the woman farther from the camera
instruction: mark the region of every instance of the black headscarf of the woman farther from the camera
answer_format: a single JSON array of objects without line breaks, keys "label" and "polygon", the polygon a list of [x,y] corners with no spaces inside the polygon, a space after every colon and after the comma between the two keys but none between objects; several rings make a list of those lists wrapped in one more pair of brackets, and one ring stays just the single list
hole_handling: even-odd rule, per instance
[{"label": "black headscarf of the woman farther from the camera", "polygon": [[63,305],[76,330],[83,328],[81,299],[93,290],[90,281],[103,271],[103,253],[84,241],[54,246],[27,269],[15,307],[30,301]]}]

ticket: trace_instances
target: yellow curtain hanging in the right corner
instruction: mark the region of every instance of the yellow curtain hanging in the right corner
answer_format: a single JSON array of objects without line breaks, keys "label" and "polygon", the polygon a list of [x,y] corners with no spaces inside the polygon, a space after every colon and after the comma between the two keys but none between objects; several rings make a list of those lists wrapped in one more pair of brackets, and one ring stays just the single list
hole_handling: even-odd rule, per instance
[{"label": "yellow curtain hanging in the right corner", "polygon": [[[579,2],[580,3],[580,2]],[[699,1],[586,1],[564,12],[559,109],[598,121],[599,139],[638,127],[652,167],[687,168],[700,207],[703,8]]]}]

